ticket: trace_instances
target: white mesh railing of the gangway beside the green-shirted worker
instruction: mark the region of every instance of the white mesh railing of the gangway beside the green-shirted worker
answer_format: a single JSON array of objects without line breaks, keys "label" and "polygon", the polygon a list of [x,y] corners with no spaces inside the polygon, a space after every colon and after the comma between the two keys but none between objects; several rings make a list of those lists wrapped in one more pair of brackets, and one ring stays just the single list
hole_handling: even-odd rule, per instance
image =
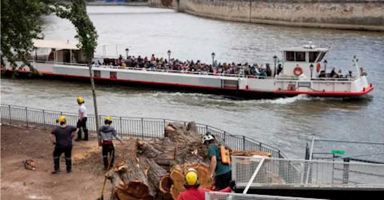
[{"label": "white mesh railing of the gangway beside the green-shirted worker", "polygon": [[384,164],[233,156],[232,179],[245,193],[252,186],[384,188]]}]

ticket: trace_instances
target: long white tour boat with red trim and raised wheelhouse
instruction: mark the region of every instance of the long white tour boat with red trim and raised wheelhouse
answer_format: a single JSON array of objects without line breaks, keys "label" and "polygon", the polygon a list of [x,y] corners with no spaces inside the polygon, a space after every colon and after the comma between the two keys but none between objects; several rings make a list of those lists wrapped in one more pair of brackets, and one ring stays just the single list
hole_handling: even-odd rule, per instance
[{"label": "long white tour boat with red trim and raised wheelhouse", "polygon": [[[31,53],[31,64],[39,71],[39,77],[89,82],[90,71],[84,54],[76,42],[34,40],[35,52]],[[39,49],[49,49],[50,53],[38,55]],[[135,87],[162,88],[166,90],[193,91],[230,95],[240,98],[277,98],[305,94],[319,97],[362,97],[373,90],[367,81],[367,73],[358,67],[358,59],[353,57],[351,76],[348,78],[329,77],[326,73],[327,61],[324,56],[329,48],[318,48],[307,44],[301,47],[284,48],[282,69],[278,69],[274,57],[270,77],[243,74],[212,74],[171,70],[142,70],[142,68],[116,68],[110,65],[92,67],[93,77],[98,84],[124,84]],[[94,62],[103,63],[104,57],[96,57]],[[277,66],[276,66],[277,65]],[[9,74],[9,63],[0,66]],[[26,67],[28,68],[28,67]],[[277,73],[280,71],[280,73]],[[29,73],[28,69],[19,74]]]}]

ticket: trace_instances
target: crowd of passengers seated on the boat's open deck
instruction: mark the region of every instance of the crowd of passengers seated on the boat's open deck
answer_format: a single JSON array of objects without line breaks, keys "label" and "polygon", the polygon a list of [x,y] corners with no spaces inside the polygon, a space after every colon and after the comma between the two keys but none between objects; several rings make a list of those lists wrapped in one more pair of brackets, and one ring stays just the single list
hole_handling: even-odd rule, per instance
[{"label": "crowd of passengers seated on the boat's open deck", "polygon": [[[202,63],[200,60],[194,62],[193,60],[181,61],[179,59],[164,59],[156,58],[154,54],[150,58],[148,57],[134,57],[128,56],[128,58],[123,58],[122,55],[118,59],[114,58],[104,58],[103,63],[98,62],[94,63],[96,67],[98,65],[109,65],[111,67],[118,68],[141,68],[142,70],[170,70],[170,71],[181,71],[181,72],[199,72],[201,74],[211,73],[211,74],[222,74],[222,75],[253,75],[259,77],[270,77],[272,75],[272,69],[269,63],[265,65],[248,63],[217,63],[217,60],[212,64]],[[273,68],[273,67],[272,67]],[[276,66],[276,74],[279,75],[283,70],[282,65],[279,63]],[[321,71],[319,78],[325,78],[327,75],[325,71]],[[348,74],[344,74],[342,70],[336,72],[336,68],[333,68],[329,74],[330,78],[350,78],[352,77],[352,72],[349,71]]]}]

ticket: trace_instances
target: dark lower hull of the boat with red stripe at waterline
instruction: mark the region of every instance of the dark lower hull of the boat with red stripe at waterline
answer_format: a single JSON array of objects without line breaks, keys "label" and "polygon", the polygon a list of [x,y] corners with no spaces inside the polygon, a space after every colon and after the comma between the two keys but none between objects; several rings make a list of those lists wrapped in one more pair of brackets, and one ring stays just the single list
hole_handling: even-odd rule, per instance
[{"label": "dark lower hull of the boat with red stripe at waterline", "polygon": [[[12,76],[12,71],[7,70],[3,73],[6,77]],[[68,82],[79,82],[89,84],[89,77],[77,76],[77,75],[65,75],[56,74],[51,72],[42,72],[39,75],[30,75],[27,71],[18,72],[18,77],[21,78],[39,78],[46,80],[61,80]],[[273,99],[281,97],[294,97],[297,95],[308,95],[311,97],[341,97],[341,98],[363,98],[371,90],[373,90],[372,84],[364,88],[361,92],[325,92],[325,91],[286,91],[286,90],[275,90],[275,91],[257,91],[240,88],[215,88],[205,87],[197,85],[183,85],[175,83],[164,83],[164,82],[151,82],[151,81],[137,81],[137,80],[121,80],[111,79],[103,77],[94,77],[94,81],[98,85],[120,85],[128,87],[155,89],[155,90],[166,90],[175,92],[197,92],[206,94],[224,95],[228,98],[233,99]]]}]

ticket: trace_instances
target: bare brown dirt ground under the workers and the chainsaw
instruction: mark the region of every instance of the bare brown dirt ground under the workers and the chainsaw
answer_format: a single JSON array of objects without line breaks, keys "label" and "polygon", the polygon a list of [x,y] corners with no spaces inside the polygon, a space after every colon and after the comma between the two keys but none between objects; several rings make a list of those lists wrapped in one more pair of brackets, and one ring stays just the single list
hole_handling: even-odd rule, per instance
[{"label": "bare brown dirt ground under the workers and the chainsaw", "polygon": [[[73,171],[66,173],[64,155],[61,173],[53,170],[50,131],[0,125],[0,200],[96,200],[104,182],[101,147],[95,137],[73,143]],[[135,140],[116,144],[115,163],[135,153]],[[23,160],[36,162],[36,171],[26,170]],[[107,180],[104,199],[109,199]]]}]

